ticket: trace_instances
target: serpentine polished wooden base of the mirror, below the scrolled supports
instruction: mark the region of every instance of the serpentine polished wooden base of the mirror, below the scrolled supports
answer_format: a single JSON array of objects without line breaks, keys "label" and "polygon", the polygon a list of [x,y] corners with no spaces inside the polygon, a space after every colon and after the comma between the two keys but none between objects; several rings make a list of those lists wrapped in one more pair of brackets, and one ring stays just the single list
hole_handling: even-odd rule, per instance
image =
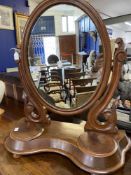
[{"label": "serpentine polished wooden base of the mirror, below the scrolled supports", "polygon": [[[20,125],[21,126],[21,125]],[[18,126],[17,126],[18,127]],[[36,127],[36,126],[35,126]],[[131,146],[124,131],[117,135],[84,132],[78,124],[52,121],[42,135],[18,139],[14,130],[5,140],[6,149],[16,155],[56,152],[71,159],[78,167],[92,174],[107,174],[121,168]],[[20,130],[20,128],[18,129]],[[22,130],[24,133],[24,130]],[[27,135],[28,130],[25,130]],[[18,133],[18,132],[17,132]]]}]

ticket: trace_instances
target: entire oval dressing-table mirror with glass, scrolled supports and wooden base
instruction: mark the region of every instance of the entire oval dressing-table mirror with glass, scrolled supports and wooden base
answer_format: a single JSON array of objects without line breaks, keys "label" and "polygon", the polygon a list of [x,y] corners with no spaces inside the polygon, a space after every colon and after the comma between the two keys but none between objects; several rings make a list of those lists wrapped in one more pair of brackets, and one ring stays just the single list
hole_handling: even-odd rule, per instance
[{"label": "entire oval dressing-table mirror with glass, scrolled supports and wooden base", "polygon": [[[20,50],[25,117],[5,139],[15,158],[55,152],[92,175],[124,165],[131,142],[116,127],[115,103],[107,108],[126,59],[123,40],[115,43],[112,59],[106,27],[86,0],[44,0],[36,7]],[[60,122],[84,114],[87,120],[81,124]]]}]

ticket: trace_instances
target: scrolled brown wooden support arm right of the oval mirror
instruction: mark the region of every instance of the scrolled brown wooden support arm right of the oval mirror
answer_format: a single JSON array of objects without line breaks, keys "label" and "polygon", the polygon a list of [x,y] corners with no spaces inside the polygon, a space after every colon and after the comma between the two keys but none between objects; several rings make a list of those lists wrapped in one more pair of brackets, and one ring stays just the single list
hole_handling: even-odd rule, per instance
[{"label": "scrolled brown wooden support arm right of the oval mirror", "polygon": [[[114,55],[113,72],[112,72],[111,81],[109,85],[107,85],[107,90],[105,91],[104,95],[95,103],[95,105],[90,110],[87,117],[85,130],[93,130],[93,131],[107,132],[107,133],[117,132],[116,130],[117,116],[116,116],[115,107],[113,107],[113,109],[110,109],[110,110],[108,109],[108,112],[104,110],[110,103],[113,97],[113,94],[115,93],[115,90],[118,86],[120,75],[121,75],[121,69],[125,59],[126,59],[126,52],[124,51],[124,49],[119,47],[116,50]],[[103,115],[103,117],[106,118],[106,122],[103,124],[98,122],[98,117],[100,115]]]}]

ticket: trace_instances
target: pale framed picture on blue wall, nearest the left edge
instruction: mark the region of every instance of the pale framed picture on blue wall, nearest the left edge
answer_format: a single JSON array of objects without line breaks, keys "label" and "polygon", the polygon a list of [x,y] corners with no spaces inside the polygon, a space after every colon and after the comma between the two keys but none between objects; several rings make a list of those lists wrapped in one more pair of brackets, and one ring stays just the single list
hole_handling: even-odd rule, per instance
[{"label": "pale framed picture on blue wall, nearest the left edge", "polygon": [[0,5],[0,29],[14,30],[13,9]]}]

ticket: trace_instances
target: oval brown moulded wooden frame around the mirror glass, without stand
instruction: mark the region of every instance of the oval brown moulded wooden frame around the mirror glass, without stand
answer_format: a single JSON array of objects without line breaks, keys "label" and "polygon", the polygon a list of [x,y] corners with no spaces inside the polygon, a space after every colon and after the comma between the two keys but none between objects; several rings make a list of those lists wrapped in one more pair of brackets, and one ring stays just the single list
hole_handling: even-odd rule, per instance
[{"label": "oval brown moulded wooden frame around the mirror glass, without stand", "polygon": [[[101,81],[97,86],[96,91],[91,96],[91,98],[84,103],[82,106],[73,109],[63,109],[55,107],[47,101],[45,101],[39,94],[37,88],[35,87],[30,70],[29,70],[29,63],[28,63],[28,45],[29,45],[29,38],[31,30],[37,21],[38,17],[43,14],[49,8],[55,5],[72,5],[77,8],[80,8],[85,14],[87,14],[93,23],[95,24],[100,39],[103,46],[103,54],[104,54],[104,67],[103,73],[101,77]],[[24,38],[21,44],[21,53],[20,53],[20,61],[19,61],[19,70],[20,70],[20,77],[22,84],[24,86],[24,90],[29,98],[29,100],[33,103],[38,111],[40,111],[43,107],[46,107],[47,110],[52,111],[54,113],[70,116],[82,113],[88,110],[93,104],[103,95],[103,92],[107,88],[108,79],[110,76],[111,71],[111,47],[110,47],[110,40],[108,37],[108,33],[102,18],[100,17],[99,13],[85,0],[45,0],[41,2],[35,10],[30,15],[24,30]]]}]

